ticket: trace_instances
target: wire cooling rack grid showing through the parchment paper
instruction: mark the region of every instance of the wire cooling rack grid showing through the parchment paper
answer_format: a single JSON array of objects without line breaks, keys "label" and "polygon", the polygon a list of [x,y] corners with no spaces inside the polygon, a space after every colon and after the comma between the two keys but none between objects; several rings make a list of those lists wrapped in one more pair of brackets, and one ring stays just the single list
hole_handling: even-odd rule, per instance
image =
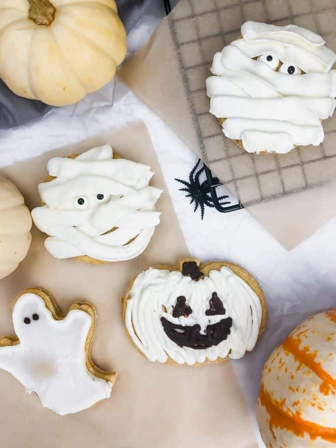
[{"label": "wire cooling rack grid showing through the parchment paper", "polygon": [[[249,182],[250,197],[245,197],[245,206],[320,185],[321,180],[315,173],[330,163],[336,167],[333,143],[336,117],[325,122],[326,137],[319,147],[297,148],[280,156],[258,156],[242,151],[225,138],[217,119],[208,112],[205,79],[211,74],[213,55],[237,38],[240,25],[246,20],[307,26],[322,34],[335,51],[336,5],[328,7],[329,3],[326,0],[184,0],[186,7],[175,8],[169,15],[169,28],[202,159],[211,169],[215,165],[217,172],[220,169],[223,184],[238,197],[244,182]],[[186,29],[188,39],[184,38]],[[221,151],[214,154],[213,147],[219,145]]]}]

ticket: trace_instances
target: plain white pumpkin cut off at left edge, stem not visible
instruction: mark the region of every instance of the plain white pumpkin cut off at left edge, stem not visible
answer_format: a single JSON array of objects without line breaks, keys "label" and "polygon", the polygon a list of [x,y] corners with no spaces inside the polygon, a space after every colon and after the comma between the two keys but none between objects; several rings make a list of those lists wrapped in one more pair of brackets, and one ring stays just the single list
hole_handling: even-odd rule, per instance
[{"label": "plain white pumpkin cut off at left edge, stem not visible", "polygon": [[17,187],[0,176],[0,279],[27,255],[32,219]]}]

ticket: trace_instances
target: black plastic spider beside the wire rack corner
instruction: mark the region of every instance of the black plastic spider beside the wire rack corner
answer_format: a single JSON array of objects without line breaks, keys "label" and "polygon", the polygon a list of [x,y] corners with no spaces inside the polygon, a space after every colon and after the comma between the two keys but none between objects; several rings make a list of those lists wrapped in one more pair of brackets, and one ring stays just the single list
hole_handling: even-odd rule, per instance
[{"label": "black plastic spider beside the wire rack corner", "polygon": [[[215,205],[214,205],[214,201],[212,200],[212,198],[210,196],[211,185],[209,185],[208,180],[205,180],[204,182],[202,182],[202,184],[200,183],[200,175],[205,170],[205,165],[203,165],[203,167],[197,171],[197,168],[198,168],[200,162],[201,162],[201,160],[199,159],[197,164],[195,165],[195,167],[191,170],[191,172],[189,174],[189,182],[186,182],[185,180],[182,180],[182,179],[176,179],[176,178],[175,178],[175,180],[177,180],[177,182],[180,182],[183,185],[185,185],[184,188],[179,188],[179,191],[186,191],[188,193],[186,195],[186,197],[191,198],[190,204],[192,204],[193,202],[195,203],[194,212],[196,212],[198,207],[200,207],[201,219],[203,220],[204,211],[205,211],[204,207],[205,206],[215,207]],[[213,186],[221,184],[218,177],[214,177],[213,181],[214,181]],[[230,204],[229,201],[220,202],[223,199],[227,199],[227,198],[228,198],[227,195],[219,196],[219,198],[218,198],[219,204],[220,205]]]}]

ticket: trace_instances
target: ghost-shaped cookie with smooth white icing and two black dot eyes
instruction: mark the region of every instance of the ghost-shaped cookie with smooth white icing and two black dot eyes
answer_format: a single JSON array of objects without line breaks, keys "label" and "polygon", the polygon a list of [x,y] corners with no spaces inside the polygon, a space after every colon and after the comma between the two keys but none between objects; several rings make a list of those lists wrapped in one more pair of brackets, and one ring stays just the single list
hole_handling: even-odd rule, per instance
[{"label": "ghost-shaped cookie with smooth white icing and two black dot eyes", "polygon": [[87,409],[110,397],[116,377],[91,359],[95,322],[90,303],[75,302],[63,315],[49,292],[26,289],[13,303],[18,338],[0,339],[0,368],[59,415]]}]

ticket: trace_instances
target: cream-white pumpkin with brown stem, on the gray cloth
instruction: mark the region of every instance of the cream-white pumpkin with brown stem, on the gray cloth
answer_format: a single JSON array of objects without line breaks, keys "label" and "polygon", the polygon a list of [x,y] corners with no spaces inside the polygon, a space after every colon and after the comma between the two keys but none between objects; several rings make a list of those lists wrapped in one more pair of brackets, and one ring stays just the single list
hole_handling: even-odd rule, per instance
[{"label": "cream-white pumpkin with brown stem, on the gray cloth", "polygon": [[107,84],[126,54],[114,0],[0,0],[0,77],[52,106]]}]

